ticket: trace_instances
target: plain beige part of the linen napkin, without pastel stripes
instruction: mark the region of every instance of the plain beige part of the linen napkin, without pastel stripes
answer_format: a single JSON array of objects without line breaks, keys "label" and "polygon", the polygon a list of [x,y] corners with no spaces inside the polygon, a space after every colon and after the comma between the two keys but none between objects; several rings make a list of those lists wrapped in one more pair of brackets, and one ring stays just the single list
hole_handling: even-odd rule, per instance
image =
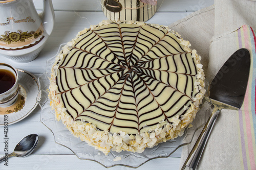
[{"label": "plain beige part of the linen napkin, without pastel stripes", "polygon": [[[255,1],[215,0],[215,6],[197,11],[169,27],[197,49],[202,56],[206,78],[211,81],[224,62],[237,50],[237,29],[243,25],[256,28],[255,14]],[[197,169],[241,169],[238,128],[236,113],[222,110]],[[196,132],[191,144],[183,147],[180,167],[201,131],[202,128]]]}]

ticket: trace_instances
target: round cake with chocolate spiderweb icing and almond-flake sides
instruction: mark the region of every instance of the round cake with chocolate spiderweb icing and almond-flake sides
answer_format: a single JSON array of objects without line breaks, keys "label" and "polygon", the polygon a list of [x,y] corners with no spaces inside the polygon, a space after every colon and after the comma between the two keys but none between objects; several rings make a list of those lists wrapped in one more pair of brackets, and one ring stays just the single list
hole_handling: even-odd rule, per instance
[{"label": "round cake with chocolate spiderweb icing and almond-flake sides", "polygon": [[52,109],[76,137],[108,154],[141,153],[181,136],[205,93],[201,57],[165,26],[104,20],[56,56]]}]

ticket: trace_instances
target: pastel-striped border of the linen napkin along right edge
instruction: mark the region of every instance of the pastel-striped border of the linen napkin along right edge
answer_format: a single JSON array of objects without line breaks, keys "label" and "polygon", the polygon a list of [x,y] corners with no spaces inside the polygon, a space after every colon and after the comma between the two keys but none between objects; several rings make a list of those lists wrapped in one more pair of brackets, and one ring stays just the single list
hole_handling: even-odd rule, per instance
[{"label": "pastel-striped border of the linen napkin along right edge", "polygon": [[241,169],[256,169],[256,36],[255,31],[245,25],[236,31],[237,48],[247,48],[251,54],[249,83],[242,108],[237,111],[239,155]]}]

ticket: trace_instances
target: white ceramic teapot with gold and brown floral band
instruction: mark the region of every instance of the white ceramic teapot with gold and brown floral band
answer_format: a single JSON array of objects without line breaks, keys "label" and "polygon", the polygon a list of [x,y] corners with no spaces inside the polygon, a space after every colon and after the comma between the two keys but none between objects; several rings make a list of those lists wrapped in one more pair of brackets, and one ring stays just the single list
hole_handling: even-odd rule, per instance
[{"label": "white ceramic teapot with gold and brown floral band", "polygon": [[0,0],[0,57],[16,62],[34,60],[55,23],[52,0],[43,0],[38,15],[33,0]]}]

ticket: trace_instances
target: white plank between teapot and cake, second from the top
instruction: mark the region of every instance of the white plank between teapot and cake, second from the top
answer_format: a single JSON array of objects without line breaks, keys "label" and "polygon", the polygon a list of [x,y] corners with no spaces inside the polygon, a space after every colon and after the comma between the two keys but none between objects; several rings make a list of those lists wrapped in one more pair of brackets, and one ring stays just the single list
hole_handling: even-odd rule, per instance
[{"label": "white plank between teapot and cake, second from the top", "polygon": [[[189,14],[188,12],[157,12],[148,23],[158,23],[168,26]],[[56,11],[56,23],[53,33],[49,37],[46,46],[39,56],[29,63],[17,63],[13,60],[0,58],[0,62],[9,62],[13,66],[25,69],[33,73],[45,72],[46,60],[56,55],[59,45],[72,40],[78,31],[84,28],[90,28],[91,25],[97,25],[98,22],[107,19],[102,12],[74,12],[74,11]]]}]

